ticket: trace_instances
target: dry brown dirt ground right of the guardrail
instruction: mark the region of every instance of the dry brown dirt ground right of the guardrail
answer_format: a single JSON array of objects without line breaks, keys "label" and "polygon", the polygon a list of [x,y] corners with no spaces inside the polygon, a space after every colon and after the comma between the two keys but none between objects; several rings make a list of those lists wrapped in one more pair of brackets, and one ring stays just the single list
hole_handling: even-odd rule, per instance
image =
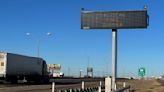
[{"label": "dry brown dirt ground right of the guardrail", "polygon": [[164,86],[157,80],[128,80],[132,92],[164,92]]}]

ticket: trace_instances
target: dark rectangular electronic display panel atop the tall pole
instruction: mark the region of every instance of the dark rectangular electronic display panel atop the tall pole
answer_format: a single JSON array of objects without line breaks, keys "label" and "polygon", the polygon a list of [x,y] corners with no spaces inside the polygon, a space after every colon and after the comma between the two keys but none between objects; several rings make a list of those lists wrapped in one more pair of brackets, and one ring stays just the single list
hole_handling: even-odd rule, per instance
[{"label": "dark rectangular electronic display panel atop the tall pole", "polygon": [[81,11],[81,29],[147,28],[146,10],[140,11]]}]

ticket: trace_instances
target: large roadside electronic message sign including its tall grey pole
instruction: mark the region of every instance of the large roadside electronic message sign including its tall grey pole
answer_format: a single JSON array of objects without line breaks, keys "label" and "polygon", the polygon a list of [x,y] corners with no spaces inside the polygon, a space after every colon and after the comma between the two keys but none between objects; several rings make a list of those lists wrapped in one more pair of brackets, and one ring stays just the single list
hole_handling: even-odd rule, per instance
[{"label": "large roadside electronic message sign including its tall grey pole", "polygon": [[81,29],[112,29],[112,91],[116,91],[117,29],[147,28],[147,10],[85,11],[81,10]]}]

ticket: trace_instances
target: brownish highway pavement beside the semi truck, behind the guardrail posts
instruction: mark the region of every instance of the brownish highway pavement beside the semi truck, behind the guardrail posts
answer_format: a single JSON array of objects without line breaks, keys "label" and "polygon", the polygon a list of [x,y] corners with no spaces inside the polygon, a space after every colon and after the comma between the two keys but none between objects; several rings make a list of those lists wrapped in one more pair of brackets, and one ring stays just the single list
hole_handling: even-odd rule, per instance
[{"label": "brownish highway pavement beside the semi truck, behind the guardrail posts", "polygon": [[[100,82],[99,79],[57,79],[54,81],[56,82],[55,90],[81,88],[81,81],[85,81],[85,87],[98,87]],[[0,92],[51,92],[51,88],[51,84],[0,84]]]}]

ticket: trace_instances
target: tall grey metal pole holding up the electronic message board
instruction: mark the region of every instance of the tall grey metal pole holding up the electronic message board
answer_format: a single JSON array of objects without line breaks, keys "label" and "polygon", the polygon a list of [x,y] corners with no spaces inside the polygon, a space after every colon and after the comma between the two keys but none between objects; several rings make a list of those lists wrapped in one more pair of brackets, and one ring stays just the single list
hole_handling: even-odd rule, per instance
[{"label": "tall grey metal pole holding up the electronic message board", "polygon": [[112,29],[112,92],[116,91],[117,78],[117,29]]}]

